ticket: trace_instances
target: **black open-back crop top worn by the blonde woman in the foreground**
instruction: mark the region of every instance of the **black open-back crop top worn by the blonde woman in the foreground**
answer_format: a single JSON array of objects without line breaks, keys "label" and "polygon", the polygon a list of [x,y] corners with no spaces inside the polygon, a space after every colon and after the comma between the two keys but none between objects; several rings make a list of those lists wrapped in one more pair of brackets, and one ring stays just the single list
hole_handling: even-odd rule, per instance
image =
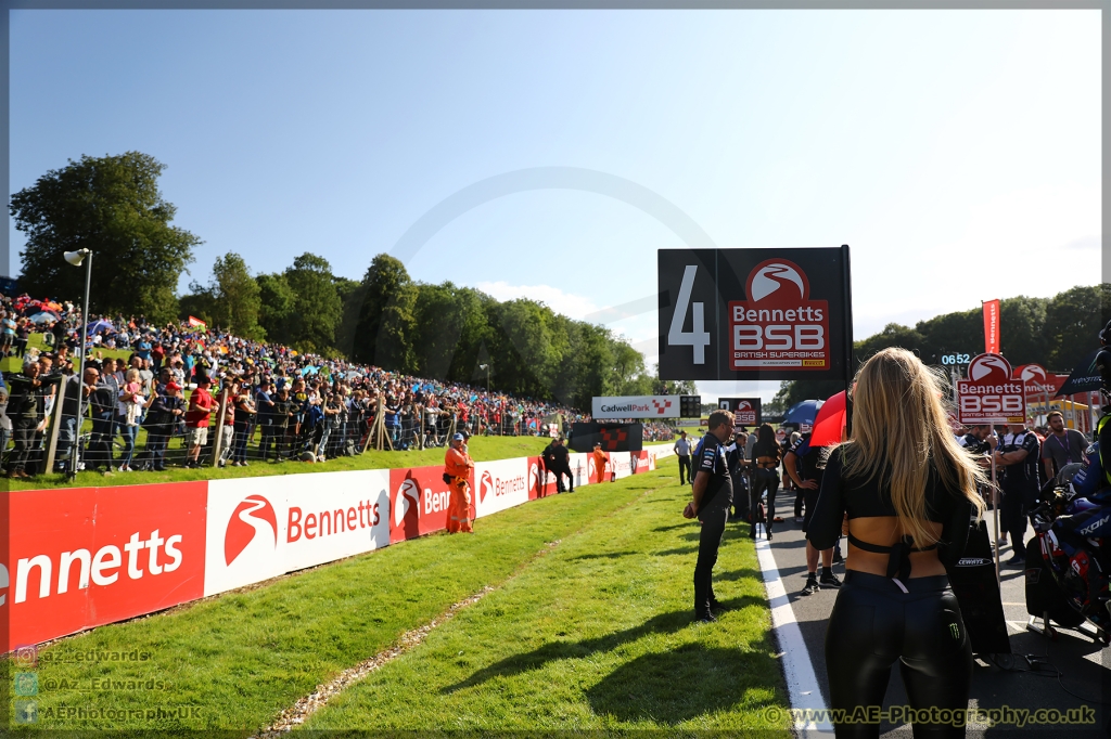
[{"label": "black open-back crop top worn by the blonde woman in the foreground", "polygon": [[[822,485],[818,494],[814,514],[807,527],[807,538],[820,551],[833,546],[841,536],[841,522],[844,514],[849,518],[870,516],[895,516],[895,507],[891,503],[891,493],[882,475],[868,482],[845,479],[842,476],[844,457],[841,447],[830,455],[822,476]],[[938,477],[937,469],[930,467],[925,485],[925,516],[941,524],[941,540],[938,543],[938,557],[945,567],[957,564],[968,544],[969,523],[972,517],[972,504],[963,495],[944,488]],[[897,568],[901,577],[910,574],[911,550],[928,550],[932,546],[877,547],[871,543],[861,543],[850,536],[850,541],[870,551],[891,551],[891,563],[888,567],[889,577]],[[863,544],[864,546],[861,546]]]}]

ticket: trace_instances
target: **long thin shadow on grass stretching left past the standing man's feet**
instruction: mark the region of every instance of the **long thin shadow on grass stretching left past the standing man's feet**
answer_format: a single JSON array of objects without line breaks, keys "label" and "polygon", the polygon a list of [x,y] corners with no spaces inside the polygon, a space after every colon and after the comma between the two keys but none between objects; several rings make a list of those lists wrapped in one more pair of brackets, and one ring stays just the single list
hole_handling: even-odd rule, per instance
[{"label": "long thin shadow on grass stretching left past the standing man's feet", "polygon": [[[740,598],[731,598],[723,603],[723,605],[732,610],[740,610],[753,604],[767,604],[767,600],[752,596],[741,596]],[[489,667],[483,667],[466,680],[441,688],[440,692],[444,695],[452,694],[457,690],[462,690],[463,688],[481,685],[496,677],[512,677],[514,675],[520,675],[521,672],[538,670],[549,662],[554,662],[561,659],[582,659],[598,652],[612,651],[621,645],[631,644],[641,637],[648,636],[649,634],[674,634],[675,631],[690,626],[693,620],[694,614],[692,610],[677,610],[653,616],[640,626],[631,629],[607,634],[605,636],[597,637],[594,639],[583,639],[581,641],[549,641],[532,651],[512,655],[511,657],[507,657],[506,659],[494,662]],[[702,667],[704,667],[704,664],[701,665],[700,669]],[[671,689],[675,689],[674,684],[672,684]],[[687,694],[688,690],[684,688],[681,692]]]}]

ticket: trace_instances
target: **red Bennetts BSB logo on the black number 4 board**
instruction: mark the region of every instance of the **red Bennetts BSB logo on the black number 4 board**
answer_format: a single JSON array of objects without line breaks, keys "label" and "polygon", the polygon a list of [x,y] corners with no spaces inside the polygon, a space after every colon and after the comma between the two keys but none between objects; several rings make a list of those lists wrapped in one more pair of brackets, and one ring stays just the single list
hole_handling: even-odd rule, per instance
[{"label": "red Bennetts BSB logo on the black number 4 board", "polygon": [[828,370],[829,302],[810,300],[810,281],[788,260],[765,260],[729,303],[730,367]]}]

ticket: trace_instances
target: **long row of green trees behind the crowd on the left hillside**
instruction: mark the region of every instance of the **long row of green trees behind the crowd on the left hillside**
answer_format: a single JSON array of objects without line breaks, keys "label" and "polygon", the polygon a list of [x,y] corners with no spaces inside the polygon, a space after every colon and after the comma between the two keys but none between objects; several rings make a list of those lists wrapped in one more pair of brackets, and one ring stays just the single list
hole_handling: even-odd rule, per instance
[{"label": "long row of green trees behind the crowd on the left hillside", "polygon": [[499,302],[451,282],[421,283],[387,254],[356,281],[309,252],[258,275],[229,252],[208,284],[194,281],[179,297],[178,275],[203,242],[171,225],[176,209],[158,188],[164,169],[140,152],[82,156],[17,193],[10,211],[28,236],[20,287],[82,295],[84,271],[62,253],[88,246],[94,314],[156,323],[192,315],[243,338],[446,382],[484,385],[481,365],[489,365],[494,389],[579,408],[595,395],[694,392],[693,383],[659,381],[643,355],[604,326],[527,298]]}]

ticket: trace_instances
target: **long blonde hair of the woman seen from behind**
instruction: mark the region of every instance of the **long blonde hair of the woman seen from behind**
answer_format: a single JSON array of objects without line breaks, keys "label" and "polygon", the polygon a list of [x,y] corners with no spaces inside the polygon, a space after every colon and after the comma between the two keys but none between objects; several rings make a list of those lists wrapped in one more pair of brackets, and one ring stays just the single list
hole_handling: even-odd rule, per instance
[{"label": "long blonde hair of the woman seen from behind", "polygon": [[949,428],[945,387],[943,377],[907,350],[877,353],[857,373],[852,438],[842,447],[845,476],[880,477],[903,532],[920,547],[938,541],[927,527],[931,464],[941,484],[967,497],[978,516],[984,508],[977,484],[985,477]]}]

